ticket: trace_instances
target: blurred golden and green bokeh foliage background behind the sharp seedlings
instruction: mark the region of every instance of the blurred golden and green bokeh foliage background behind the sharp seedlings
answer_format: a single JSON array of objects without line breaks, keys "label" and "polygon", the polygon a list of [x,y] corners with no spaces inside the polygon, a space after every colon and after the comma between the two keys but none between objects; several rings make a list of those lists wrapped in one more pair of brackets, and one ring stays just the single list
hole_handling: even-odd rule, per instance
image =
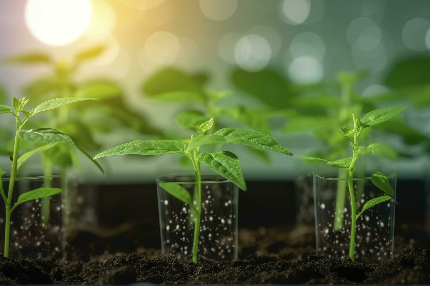
[{"label": "blurred golden and green bokeh foliage background behind the sharp seedlings", "polygon": [[[33,107],[60,96],[99,97],[37,123],[55,123],[92,155],[132,140],[179,138],[189,124],[213,117],[215,129],[271,134],[297,155],[226,146],[240,157],[247,179],[284,180],[308,168],[301,155],[346,157],[350,148],[339,128],[350,127],[351,112],[407,105],[365,138],[386,142],[377,153],[400,177],[429,172],[430,6],[424,0],[413,6],[401,0],[78,2],[92,5],[88,27],[62,45],[34,32],[26,1],[0,3],[0,103],[10,104],[11,96],[26,96]],[[74,21],[82,24],[85,11],[78,8]],[[8,120],[0,121],[3,167],[12,148]],[[59,148],[51,153],[62,154],[56,163],[63,169],[81,156]],[[184,162],[179,155],[101,160],[106,178],[120,181],[187,172]],[[29,172],[40,172],[38,163],[34,158]],[[105,179],[89,160],[75,167],[78,176]]]}]

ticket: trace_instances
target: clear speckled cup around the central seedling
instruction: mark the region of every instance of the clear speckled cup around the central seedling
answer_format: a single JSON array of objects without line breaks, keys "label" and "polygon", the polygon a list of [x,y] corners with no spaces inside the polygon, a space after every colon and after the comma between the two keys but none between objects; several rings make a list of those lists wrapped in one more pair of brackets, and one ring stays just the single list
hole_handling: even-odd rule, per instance
[{"label": "clear speckled cup around the central seedling", "polygon": [[[193,198],[197,185],[195,177],[157,178],[162,253],[191,259],[196,216],[187,203],[170,195],[160,183],[179,184]],[[221,176],[202,175],[199,259],[237,260],[237,207],[238,187],[235,184]]]}]

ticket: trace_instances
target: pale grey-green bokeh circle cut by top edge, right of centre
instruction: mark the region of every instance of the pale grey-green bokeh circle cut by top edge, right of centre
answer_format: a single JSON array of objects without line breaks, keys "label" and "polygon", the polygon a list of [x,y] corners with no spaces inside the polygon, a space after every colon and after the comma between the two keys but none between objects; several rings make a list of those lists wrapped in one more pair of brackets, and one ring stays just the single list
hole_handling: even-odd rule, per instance
[{"label": "pale grey-green bokeh circle cut by top edge, right of centre", "polygon": [[310,3],[310,0],[284,0],[282,20],[292,25],[303,23],[309,17]]}]

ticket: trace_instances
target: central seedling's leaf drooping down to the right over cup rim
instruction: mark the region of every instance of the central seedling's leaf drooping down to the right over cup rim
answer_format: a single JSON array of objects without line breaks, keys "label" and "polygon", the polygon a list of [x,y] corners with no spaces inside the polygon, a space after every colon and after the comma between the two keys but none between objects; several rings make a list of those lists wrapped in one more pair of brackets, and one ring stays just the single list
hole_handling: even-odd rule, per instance
[{"label": "central seedling's leaf drooping down to the right over cup rim", "polygon": [[216,153],[200,153],[197,155],[200,162],[246,191],[245,179],[240,168],[239,159],[228,151]]}]

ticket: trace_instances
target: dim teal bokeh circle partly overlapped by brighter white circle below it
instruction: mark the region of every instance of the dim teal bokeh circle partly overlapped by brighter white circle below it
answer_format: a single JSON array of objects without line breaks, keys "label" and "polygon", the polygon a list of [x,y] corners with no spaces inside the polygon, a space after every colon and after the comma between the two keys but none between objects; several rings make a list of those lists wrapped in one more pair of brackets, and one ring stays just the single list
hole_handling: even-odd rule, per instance
[{"label": "dim teal bokeh circle partly overlapped by brighter white circle below it", "polygon": [[324,40],[316,33],[304,32],[292,39],[290,53],[294,58],[309,55],[322,60],[326,54],[326,45]]}]

